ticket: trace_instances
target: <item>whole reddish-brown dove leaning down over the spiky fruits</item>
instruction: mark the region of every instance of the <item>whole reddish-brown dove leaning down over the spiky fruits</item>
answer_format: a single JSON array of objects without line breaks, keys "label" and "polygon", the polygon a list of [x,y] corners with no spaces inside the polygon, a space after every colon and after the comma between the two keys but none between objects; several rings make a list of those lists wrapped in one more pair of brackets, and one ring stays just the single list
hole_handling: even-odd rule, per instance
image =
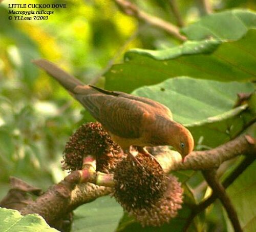
[{"label": "whole reddish-brown dove leaning down over the spiky fruits", "polygon": [[46,70],[99,121],[123,150],[170,145],[182,158],[194,149],[190,132],[175,122],[170,110],[157,101],[84,85],[53,63],[39,59],[34,64]]}]

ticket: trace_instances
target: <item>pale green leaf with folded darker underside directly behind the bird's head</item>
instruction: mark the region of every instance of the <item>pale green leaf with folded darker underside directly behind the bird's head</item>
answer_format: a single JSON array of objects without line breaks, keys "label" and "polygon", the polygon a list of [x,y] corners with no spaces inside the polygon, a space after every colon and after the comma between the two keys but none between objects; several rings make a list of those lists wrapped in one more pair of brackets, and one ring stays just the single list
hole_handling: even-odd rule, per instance
[{"label": "pale green leaf with folded darker underside directly behind the bird's head", "polygon": [[230,140],[255,119],[255,114],[246,105],[232,109],[237,93],[253,90],[251,83],[224,83],[181,76],[139,88],[133,94],[161,102],[173,112],[174,120],[189,128],[196,143],[201,137],[203,145],[215,147]]}]

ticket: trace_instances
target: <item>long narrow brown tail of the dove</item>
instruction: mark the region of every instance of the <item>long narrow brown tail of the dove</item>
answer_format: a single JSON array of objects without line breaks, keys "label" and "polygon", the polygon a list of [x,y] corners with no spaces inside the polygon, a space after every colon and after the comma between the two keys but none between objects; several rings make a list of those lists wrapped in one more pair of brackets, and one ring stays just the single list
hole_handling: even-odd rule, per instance
[{"label": "long narrow brown tail of the dove", "polygon": [[84,86],[84,84],[74,76],[60,69],[57,65],[45,59],[33,60],[32,63],[44,69],[48,74],[53,76],[65,89],[76,94],[75,88]]}]

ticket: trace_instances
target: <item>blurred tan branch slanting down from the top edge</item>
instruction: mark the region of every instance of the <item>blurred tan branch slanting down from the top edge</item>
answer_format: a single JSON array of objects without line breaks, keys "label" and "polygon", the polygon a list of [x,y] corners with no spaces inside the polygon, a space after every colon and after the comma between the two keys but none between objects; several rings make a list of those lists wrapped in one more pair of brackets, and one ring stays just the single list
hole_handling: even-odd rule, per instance
[{"label": "blurred tan branch slanting down from the top edge", "polygon": [[147,14],[146,12],[139,10],[138,7],[126,0],[114,0],[116,4],[119,6],[119,8],[127,15],[134,16],[138,19],[141,19],[154,27],[160,28],[170,35],[174,36],[176,39],[179,39],[181,41],[185,41],[186,37],[181,35],[179,32],[179,28],[176,27],[176,25],[167,22],[161,18],[152,16],[150,14]]}]

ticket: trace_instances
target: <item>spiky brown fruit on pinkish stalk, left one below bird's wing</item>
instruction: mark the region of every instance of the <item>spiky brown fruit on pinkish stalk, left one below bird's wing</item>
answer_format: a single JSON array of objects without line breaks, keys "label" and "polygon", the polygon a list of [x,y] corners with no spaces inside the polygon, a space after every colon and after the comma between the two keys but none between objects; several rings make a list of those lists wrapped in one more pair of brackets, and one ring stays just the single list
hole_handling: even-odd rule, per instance
[{"label": "spiky brown fruit on pinkish stalk, left one below bird's wing", "polygon": [[82,124],[70,137],[63,151],[63,169],[80,170],[85,156],[94,156],[97,170],[108,172],[119,159],[121,148],[98,122]]}]

